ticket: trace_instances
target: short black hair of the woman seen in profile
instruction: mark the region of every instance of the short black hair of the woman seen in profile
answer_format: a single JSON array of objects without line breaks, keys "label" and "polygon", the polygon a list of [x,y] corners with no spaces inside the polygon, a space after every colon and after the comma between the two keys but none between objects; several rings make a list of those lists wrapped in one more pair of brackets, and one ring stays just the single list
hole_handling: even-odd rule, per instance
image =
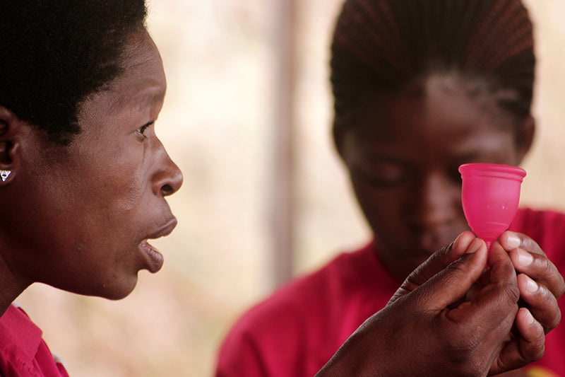
[{"label": "short black hair of the woman seen in profile", "polygon": [[0,105],[70,143],[85,97],[121,73],[144,0],[0,0]]}]

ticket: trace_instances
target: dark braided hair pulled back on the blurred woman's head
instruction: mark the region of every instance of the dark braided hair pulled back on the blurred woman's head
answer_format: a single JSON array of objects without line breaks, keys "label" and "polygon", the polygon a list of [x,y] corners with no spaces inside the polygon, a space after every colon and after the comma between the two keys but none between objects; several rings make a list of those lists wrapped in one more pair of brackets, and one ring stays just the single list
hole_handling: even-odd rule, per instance
[{"label": "dark braided hair pulled back on the blurred woman's head", "polygon": [[367,93],[456,71],[487,81],[518,119],[530,115],[533,26],[520,0],[346,0],[331,45],[334,134]]}]

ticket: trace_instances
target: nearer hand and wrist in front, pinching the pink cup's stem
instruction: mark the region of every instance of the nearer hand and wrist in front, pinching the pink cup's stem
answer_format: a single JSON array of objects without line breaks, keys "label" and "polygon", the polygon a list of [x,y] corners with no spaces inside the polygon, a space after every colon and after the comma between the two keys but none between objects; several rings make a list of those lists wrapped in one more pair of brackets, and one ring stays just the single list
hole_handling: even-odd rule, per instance
[{"label": "nearer hand and wrist in front, pinching the pink cup's stem", "polygon": [[461,233],[415,269],[317,376],[487,376],[538,359],[544,329],[527,308],[518,311],[518,279],[500,243],[488,265],[485,272],[484,241]]}]

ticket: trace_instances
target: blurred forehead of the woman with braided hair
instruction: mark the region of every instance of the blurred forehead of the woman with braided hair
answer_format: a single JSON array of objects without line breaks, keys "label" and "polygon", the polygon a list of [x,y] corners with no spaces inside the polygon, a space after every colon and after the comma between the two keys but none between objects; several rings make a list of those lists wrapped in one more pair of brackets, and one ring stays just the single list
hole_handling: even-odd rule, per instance
[{"label": "blurred forehead of the woman with braided hair", "polygon": [[487,83],[441,74],[418,79],[393,93],[367,95],[354,129],[385,144],[438,138],[460,140],[484,133],[513,132],[514,117],[497,104]]}]

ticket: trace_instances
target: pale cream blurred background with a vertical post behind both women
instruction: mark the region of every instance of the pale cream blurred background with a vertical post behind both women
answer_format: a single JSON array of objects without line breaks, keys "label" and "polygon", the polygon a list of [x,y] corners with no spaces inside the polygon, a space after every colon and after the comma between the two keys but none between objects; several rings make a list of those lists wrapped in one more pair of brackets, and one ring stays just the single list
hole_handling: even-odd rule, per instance
[{"label": "pale cream blurred background with a vertical post behind both women", "polygon": [[[150,1],[168,81],[157,134],[184,173],[169,199],[179,226],[153,243],[161,272],[141,272],[124,300],[40,284],[18,298],[71,376],[211,376],[245,308],[368,239],[330,137],[328,47],[340,4]],[[522,204],[565,209],[565,2],[526,4],[538,132]]]}]

